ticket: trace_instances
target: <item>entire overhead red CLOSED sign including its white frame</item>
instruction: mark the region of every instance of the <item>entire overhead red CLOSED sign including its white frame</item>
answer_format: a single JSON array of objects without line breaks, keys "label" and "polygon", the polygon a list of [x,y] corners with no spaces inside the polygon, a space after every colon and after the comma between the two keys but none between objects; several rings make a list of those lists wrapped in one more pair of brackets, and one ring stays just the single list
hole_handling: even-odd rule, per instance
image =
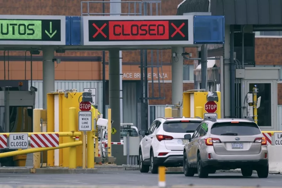
[{"label": "entire overhead red CLOSED sign including its white frame", "polygon": [[193,16],[85,16],[83,45],[193,45]]}]

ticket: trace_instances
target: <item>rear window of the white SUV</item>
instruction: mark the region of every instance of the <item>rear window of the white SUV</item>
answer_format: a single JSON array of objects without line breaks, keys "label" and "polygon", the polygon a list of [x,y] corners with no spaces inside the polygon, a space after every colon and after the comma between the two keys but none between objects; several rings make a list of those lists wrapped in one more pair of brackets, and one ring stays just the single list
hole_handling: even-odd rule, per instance
[{"label": "rear window of the white SUV", "polygon": [[169,133],[194,133],[201,121],[168,121],[163,123],[163,130]]}]

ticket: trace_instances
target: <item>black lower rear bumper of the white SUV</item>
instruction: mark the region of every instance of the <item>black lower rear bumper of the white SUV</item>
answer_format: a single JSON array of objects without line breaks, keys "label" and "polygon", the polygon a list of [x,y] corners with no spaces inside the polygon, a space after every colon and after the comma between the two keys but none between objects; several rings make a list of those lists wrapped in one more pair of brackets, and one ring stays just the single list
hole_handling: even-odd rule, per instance
[{"label": "black lower rear bumper of the white SUV", "polygon": [[157,165],[163,164],[166,167],[183,166],[183,155],[168,155],[167,157],[154,157]]}]

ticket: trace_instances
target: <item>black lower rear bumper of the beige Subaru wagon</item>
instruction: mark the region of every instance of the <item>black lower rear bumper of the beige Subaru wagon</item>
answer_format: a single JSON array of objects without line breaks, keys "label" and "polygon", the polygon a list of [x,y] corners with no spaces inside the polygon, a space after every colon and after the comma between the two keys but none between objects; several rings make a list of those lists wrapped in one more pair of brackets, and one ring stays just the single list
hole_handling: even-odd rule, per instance
[{"label": "black lower rear bumper of the beige Subaru wagon", "polygon": [[227,160],[206,160],[202,161],[203,166],[212,166],[218,170],[230,170],[237,169],[242,167],[252,167],[257,168],[259,166],[267,166],[268,159],[259,159],[259,160],[240,160],[240,161],[227,161]]}]

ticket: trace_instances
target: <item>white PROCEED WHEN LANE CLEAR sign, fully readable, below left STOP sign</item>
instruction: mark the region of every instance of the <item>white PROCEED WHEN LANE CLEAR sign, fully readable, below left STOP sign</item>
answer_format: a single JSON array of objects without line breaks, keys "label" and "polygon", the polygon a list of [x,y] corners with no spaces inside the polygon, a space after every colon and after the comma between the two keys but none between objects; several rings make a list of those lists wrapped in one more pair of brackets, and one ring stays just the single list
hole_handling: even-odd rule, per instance
[{"label": "white PROCEED WHEN LANE CLEAR sign, fully readable, below left STOP sign", "polygon": [[92,112],[80,111],[78,112],[78,130],[92,131]]}]

